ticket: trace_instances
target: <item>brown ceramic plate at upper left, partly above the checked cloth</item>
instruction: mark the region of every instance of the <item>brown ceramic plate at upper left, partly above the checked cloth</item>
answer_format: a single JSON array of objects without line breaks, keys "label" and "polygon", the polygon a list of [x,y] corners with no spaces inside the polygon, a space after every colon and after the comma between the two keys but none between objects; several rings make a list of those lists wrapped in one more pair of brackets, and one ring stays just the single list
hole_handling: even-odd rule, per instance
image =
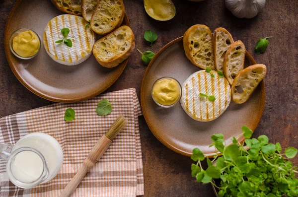
[{"label": "brown ceramic plate at upper left, partly above the checked cloth", "polygon": [[[42,98],[63,103],[89,99],[105,91],[121,75],[128,60],[114,68],[100,66],[93,55],[75,66],[53,61],[46,53],[43,42],[39,54],[31,60],[16,58],[9,50],[9,37],[19,28],[34,30],[42,38],[52,18],[64,14],[50,0],[18,0],[12,8],[5,27],[4,47],[9,66],[18,80]],[[125,15],[123,25],[129,20]]]}]

